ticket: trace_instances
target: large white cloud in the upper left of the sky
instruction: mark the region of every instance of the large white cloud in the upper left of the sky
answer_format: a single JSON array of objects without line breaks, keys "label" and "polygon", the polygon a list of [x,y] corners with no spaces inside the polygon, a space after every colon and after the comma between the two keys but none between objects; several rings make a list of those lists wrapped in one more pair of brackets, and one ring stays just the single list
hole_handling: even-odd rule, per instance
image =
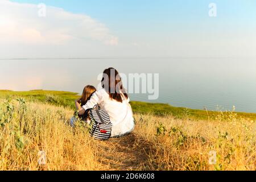
[{"label": "large white cloud in the upper left of the sky", "polygon": [[0,0],[0,44],[63,45],[73,40],[117,45],[118,38],[88,15],[46,6],[40,17],[38,5]]}]

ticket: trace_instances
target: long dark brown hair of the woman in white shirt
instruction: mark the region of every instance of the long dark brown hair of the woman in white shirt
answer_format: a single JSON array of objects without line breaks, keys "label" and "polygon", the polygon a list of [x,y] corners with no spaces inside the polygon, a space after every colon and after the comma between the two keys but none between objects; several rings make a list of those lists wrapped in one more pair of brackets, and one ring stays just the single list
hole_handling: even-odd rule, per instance
[{"label": "long dark brown hair of the woman in white shirt", "polygon": [[105,69],[101,80],[102,88],[108,92],[109,97],[118,102],[123,102],[121,94],[127,99],[128,94],[123,88],[122,79],[114,68]]}]

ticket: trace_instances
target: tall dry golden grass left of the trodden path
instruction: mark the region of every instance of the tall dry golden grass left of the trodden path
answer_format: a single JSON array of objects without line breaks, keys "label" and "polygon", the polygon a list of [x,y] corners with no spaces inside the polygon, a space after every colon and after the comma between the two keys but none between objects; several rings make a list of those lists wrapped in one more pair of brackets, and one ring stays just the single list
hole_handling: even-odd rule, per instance
[{"label": "tall dry golden grass left of the trodden path", "polygon": [[[7,101],[0,106],[0,170],[96,170],[95,141],[68,125],[73,111]],[[39,165],[39,151],[47,157]],[[41,154],[39,154],[41,155]]]}]

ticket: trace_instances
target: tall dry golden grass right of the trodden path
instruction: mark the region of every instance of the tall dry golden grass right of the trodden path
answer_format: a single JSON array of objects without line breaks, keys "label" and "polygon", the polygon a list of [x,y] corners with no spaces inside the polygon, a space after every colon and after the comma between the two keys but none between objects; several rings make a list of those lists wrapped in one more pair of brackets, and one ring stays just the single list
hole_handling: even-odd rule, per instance
[{"label": "tall dry golden grass right of the trodden path", "polygon": [[[152,170],[255,170],[256,122],[229,118],[195,121],[136,115],[135,133],[152,143]],[[216,154],[216,158],[215,157]]]}]

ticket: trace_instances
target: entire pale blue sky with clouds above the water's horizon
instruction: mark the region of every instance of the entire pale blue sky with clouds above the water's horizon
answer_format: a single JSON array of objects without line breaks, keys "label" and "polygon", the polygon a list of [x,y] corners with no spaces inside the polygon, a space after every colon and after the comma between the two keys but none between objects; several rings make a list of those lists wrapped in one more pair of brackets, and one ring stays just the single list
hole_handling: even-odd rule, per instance
[{"label": "entire pale blue sky with clouds above the water's horizon", "polygon": [[[42,6],[46,5],[46,16]],[[209,4],[216,4],[215,17]],[[0,0],[0,58],[256,57],[254,0]],[[42,15],[42,14],[41,14]]]}]

